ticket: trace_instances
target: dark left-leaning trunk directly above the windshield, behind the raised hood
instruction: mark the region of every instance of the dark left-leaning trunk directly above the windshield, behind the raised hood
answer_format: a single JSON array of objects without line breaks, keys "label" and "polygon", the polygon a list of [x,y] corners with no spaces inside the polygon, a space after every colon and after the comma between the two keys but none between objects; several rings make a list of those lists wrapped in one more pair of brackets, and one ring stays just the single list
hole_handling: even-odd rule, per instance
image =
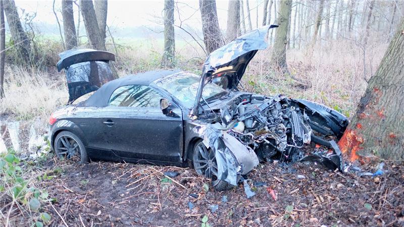
[{"label": "dark left-leaning trunk directly above the windshield, behind the raised hood", "polygon": [[209,54],[224,44],[219,28],[218,13],[215,0],[199,0],[202,31],[206,52]]}]

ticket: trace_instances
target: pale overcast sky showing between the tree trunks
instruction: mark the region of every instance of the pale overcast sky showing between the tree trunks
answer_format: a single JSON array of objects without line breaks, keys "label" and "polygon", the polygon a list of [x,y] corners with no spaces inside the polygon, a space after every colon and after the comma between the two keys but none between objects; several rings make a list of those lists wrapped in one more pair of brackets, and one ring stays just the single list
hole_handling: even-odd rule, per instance
[{"label": "pale overcast sky showing between the tree trunks", "polygon": [[[28,13],[36,13],[34,22],[44,22],[48,24],[56,24],[55,15],[53,13],[53,1],[27,1],[16,0],[16,5],[21,10]],[[219,17],[219,24],[221,29],[226,28],[227,23],[227,7],[228,1],[216,1]],[[259,15],[262,14],[263,0],[250,0],[249,7],[251,12],[252,26],[256,24],[256,6],[259,4]],[[191,26],[195,29],[200,29],[200,12],[198,1],[176,1],[180,11],[181,20],[185,20],[184,24]],[[153,27],[157,24],[155,21],[161,20],[164,1],[123,1],[123,0],[109,0],[108,1],[108,19],[107,24],[112,28],[126,28],[146,26]],[[73,6],[75,10],[75,20],[77,20],[77,7]],[[62,19],[61,1],[57,0],[55,9],[58,12],[59,19]],[[20,13],[22,11],[19,11]],[[245,1],[244,1],[245,12]],[[246,15],[246,12],[245,12]],[[21,15],[20,15],[21,17]],[[259,21],[262,19],[260,18]],[[180,23],[178,13],[175,12],[176,24]],[[63,24],[61,22],[61,24]],[[38,28],[40,30],[40,28]],[[48,31],[46,31],[48,32]],[[58,33],[58,31],[53,31]]]}]

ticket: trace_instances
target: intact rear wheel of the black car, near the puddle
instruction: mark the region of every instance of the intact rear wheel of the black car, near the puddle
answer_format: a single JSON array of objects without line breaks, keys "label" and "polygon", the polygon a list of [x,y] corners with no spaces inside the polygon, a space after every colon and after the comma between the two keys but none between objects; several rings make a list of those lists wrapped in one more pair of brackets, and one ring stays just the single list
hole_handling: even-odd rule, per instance
[{"label": "intact rear wheel of the black car, near the puddle", "polygon": [[60,132],[54,142],[56,156],[83,164],[89,162],[87,151],[81,139],[69,131]]}]

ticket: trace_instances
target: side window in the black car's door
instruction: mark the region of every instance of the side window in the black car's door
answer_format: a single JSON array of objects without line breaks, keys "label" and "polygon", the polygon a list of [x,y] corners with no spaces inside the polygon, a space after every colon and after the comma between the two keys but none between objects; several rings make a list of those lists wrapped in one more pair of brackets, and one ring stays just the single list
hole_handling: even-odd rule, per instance
[{"label": "side window in the black car's door", "polygon": [[148,86],[128,85],[117,88],[112,93],[108,105],[130,107],[160,107],[163,98],[157,91]]}]

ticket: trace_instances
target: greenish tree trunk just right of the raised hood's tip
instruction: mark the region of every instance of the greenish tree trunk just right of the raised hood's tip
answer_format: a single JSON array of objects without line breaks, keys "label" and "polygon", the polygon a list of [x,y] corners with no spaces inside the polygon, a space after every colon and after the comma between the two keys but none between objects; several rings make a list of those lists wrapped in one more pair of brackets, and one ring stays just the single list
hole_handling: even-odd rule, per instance
[{"label": "greenish tree trunk just right of the raised hood's tip", "polygon": [[286,64],[286,44],[291,7],[292,3],[290,0],[280,2],[277,19],[279,27],[275,29],[275,42],[271,57],[271,62],[273,62],[276,69],[283,74],[289,74]]}]

